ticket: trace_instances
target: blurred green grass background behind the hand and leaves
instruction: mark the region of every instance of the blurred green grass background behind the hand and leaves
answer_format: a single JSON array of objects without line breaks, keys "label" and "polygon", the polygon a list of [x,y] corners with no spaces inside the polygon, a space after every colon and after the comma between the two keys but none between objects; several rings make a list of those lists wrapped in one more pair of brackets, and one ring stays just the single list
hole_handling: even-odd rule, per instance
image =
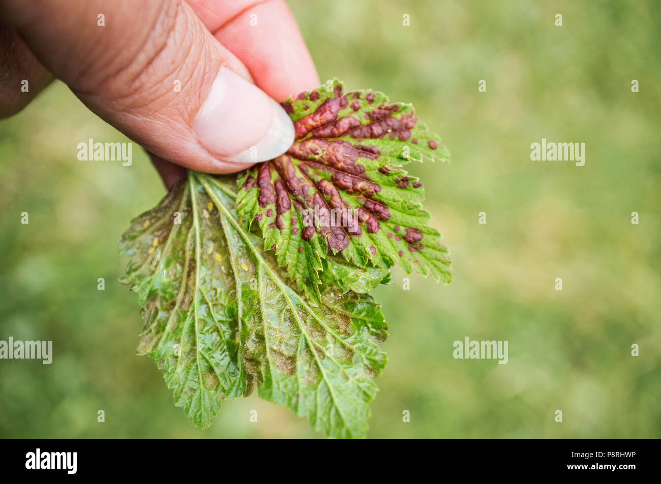
[{"label": "blurred green grass background behind the hand and leaves", "polygon": [[[403,291],[395,269],[375,291],[391,336],[369,436],[661,436],[660,5],[290,2],[321,79],[412,102],[452,153],[410,172],[454,280]],[[585,166],[532,162],[543,137],[586,143]],[[88,138],[127,141],[61,83],[0,122],[0,339],[54,341],[50,366],[0,361],[0,436],[321,436],[256,394],[206,431],[175,408],[116,282],[120,234],[164,189],[144,153],[78,161]],[[453,359],[465,336],[508,340],[509,363]]]}]

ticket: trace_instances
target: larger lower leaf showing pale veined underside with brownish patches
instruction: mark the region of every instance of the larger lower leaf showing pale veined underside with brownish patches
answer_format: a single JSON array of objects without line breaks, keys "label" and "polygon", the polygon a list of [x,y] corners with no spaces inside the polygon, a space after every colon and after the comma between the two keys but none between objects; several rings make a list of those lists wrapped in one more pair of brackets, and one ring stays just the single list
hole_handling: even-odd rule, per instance
[{"label": "larger lower leaf showing pale veined underside with brownish patches", "polygon": [[156,361],[197,427],[212,423],[221,399],[256,387],[328,436],[364,436],[387,361],[377,346],[387,326],[366,293],[389,272],[317,257],[311,296],[239,222],[234,186],[188,172],[124,233],[122,283],[144,309],[137,353]]}]

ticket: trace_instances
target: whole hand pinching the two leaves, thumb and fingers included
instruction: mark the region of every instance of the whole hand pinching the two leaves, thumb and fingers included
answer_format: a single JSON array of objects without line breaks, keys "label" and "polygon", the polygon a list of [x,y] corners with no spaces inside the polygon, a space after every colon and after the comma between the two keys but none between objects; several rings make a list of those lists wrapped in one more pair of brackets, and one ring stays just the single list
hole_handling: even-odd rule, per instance
[{"label": "whole hand pinching the two leaves, thumb and fingers included", "polygon": [[184,168],[284,153],[293,125],[276,101],[320,84],[282,0],[0,0],[0,18],[0,118],[52,73],[147,149],[168,188]]}]

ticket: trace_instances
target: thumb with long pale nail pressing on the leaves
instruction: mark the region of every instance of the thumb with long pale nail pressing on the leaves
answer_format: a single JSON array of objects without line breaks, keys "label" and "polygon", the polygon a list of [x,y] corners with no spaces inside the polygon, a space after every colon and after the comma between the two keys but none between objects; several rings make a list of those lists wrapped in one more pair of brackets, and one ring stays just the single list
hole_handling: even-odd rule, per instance
[{"label": "thumb with long pale nail pressing on the leaves", "polygon": [[284,153],[293,124],[180,0],[0,0],[36,57],[93,112],[186,168],[241,170]]}]

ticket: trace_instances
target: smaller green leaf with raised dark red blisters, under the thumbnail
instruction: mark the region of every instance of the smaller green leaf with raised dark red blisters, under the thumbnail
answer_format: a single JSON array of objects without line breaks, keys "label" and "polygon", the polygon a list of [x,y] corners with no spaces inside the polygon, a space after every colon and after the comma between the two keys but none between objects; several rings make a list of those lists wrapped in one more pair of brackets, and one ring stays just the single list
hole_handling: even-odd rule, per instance
[{"label": "smaller green leaf with raised dark red blisters, under the thumbnail", "polygon": [[337,80],[282,105],[295,141],[239,175],[237,213],[246,228],[257,221],[297,287],[317,297],[329,254],[449,283],[449,252],[422,209],[422,184],[402,168],[449,153],[412,106],[372,90],[344,93]]}]

